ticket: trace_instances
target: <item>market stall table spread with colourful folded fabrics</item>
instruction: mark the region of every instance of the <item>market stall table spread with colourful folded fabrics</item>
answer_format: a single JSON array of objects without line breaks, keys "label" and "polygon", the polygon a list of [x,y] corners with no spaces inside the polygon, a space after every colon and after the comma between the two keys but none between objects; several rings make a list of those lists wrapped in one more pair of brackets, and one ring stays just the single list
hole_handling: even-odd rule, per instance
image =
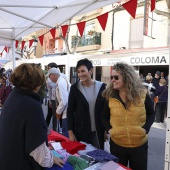
[{"label": "market stall table spread with colourful folded fabrics", "polygon": [[52,130],[48,135],[48,144],[52,154],[61,158],[65,164],[63,168],[53,165],[46,170],[130,170],[119,164],[116,156],[85,142],[70,141]]}]

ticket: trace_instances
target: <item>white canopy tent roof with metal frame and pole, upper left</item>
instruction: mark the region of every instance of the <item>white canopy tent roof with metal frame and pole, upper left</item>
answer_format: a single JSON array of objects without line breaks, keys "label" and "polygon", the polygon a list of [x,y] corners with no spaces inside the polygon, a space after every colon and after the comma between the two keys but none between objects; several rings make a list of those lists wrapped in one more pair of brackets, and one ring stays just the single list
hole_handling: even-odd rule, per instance
[{"label": "white canopy tent roof with metal frame and pole, upper left", "polygon": [[12,47],[15,40],[42,28],[65,24],[76,15],[120,2],[119,0],[0,0],[0,46]]}]

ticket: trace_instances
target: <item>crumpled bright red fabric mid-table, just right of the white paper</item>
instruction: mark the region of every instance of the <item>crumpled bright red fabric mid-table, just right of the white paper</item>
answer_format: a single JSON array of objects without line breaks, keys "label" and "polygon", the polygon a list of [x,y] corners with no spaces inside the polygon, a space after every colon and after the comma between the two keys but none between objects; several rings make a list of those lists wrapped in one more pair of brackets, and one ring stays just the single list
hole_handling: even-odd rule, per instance
[{"label": "crumpled bright red fabric mid-table, just right of the white paper", "polygon": [[61,146],[70,154],[75,154],[79,150],[85,149],[86,145],[78,141],[61,142]]}]

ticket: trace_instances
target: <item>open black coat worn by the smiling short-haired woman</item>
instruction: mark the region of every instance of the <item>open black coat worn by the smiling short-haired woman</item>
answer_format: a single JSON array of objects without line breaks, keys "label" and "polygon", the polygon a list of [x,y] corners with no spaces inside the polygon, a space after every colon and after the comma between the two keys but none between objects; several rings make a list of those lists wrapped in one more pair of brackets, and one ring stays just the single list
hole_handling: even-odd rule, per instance
[{"label": "open black coat worn by the smiling short-haired woman", "polygon": [[[95,124],[100,148],[104,148],[104,126],[101,121],[101,113],[104,106],[104,98],[101,93],[106,84],[102,84],[95,102]],[[71,86],[67,109],[68,130],[72,130],[78,141],[92,143],[91,121],[89,104],[84,95],[78,89],[78,83]]]}]

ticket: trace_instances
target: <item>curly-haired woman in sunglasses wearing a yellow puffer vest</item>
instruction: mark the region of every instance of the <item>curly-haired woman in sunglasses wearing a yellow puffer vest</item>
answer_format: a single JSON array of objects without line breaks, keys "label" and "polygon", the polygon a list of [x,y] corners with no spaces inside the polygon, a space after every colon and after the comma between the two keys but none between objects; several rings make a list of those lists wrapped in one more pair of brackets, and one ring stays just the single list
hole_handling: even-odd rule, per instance
[{"label": "curly-haired woman in sunglasses wearing a yellow puffer vest", "polygon": [[135,69],[126,63],[115,64],[103,97],[102,122],[110,134],[110,152],[133,170],[147,170],[147,134],[155,114]]}]

